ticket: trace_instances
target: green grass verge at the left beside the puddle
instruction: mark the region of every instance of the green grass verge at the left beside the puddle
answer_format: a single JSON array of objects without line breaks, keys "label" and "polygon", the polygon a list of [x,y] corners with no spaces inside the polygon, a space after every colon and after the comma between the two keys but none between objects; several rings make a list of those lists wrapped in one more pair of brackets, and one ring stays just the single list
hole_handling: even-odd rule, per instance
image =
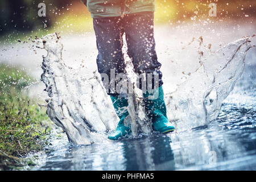
[{"label": "green grass verge at the left beside the puddle", "polygon": [[17,157],[46,147],[51,130],[46,111],[24,92],[33,78],[22,69],[0,64],[0,169],[24,164]]}]

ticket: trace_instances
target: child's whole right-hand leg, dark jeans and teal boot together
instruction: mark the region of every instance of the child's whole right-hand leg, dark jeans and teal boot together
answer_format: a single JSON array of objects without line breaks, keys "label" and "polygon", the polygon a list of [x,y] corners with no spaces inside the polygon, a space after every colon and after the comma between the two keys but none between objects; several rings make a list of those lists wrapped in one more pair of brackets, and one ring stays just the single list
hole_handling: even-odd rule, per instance
[{"label": "child's whole right-hand leg, dark jeans and teal boot together", "polygon": [[[137,73],[154,72],[159,78],[156,81],[156,89],[143,94],[146,105],[146,114],[152,120],[152,129],[160,133],[168,133],[175,130],[175,127],[168,121],[164,93],[162,88],[162,73],[159,71],[161,64],[155,52],[154,40],[154,13],[133,14],[126,16],[125,32],[128,46],[128,54],[133,59]],[[154,83],[154,79],[152,79]],[[153,84],[154,86],[154,84]],[[144,90],[143,90],[144,91]],[[153,99],[151,99],[152,96]]]}]

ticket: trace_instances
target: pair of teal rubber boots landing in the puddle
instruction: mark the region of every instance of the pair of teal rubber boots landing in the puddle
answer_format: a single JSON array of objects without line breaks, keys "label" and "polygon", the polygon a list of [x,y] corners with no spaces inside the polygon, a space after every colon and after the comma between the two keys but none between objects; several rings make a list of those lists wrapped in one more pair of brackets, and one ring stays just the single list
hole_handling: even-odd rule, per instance
[{"label": "pair of teal rubber boots landing in the puddle", "polygon": [[[144,103],[146,105],[146,112],[148,117],[152,118],[152,129],[159,131],[160,133],[168,133],[175,130],[175,127],[171,125],[166,115],[166,104],[164,103],[163,88],[160,86],[156,88],[154,92],[143,94]],[[131,128],[125,126],[124,120],[129,115],[126,107],[128,106],[128,100],[124,97],[111,96],[115,111],[120,118],[117,129],[108,138],[111,140],[118,140],[126,137],[131,133]]]}]

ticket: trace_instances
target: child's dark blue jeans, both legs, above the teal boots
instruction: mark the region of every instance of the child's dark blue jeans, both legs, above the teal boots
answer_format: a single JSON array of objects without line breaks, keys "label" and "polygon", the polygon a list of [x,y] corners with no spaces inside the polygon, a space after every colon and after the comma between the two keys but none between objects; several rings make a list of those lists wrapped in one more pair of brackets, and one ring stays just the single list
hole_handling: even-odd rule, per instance
[{"label": "child's dark blue jeans, both legs, above the teal boots", "polygon": [[[158,80],[152,77],[152,88],[158,88],[163,84],[161,64],[155,52],[154,39],[154,12],[143,12],[140,14],[126,14],[123,17],[93,18],[93,26],[97,40],[97,67],[99,73],[108,75],[110,81],[110,70],[114,73],[126,73],[125,60],[123,57],[122,36],[125,33],[127,42],[127,54],[133,61],[134,72],[158,74]],[[102,81],[105,78],[102,77]],[[142,84],[139,82],[139,87]],[[154,85],[154,82],[158,85]],[[109,85],[105,85],[109,88]],[[147,87],[148,88],[148,87]],[[119,93],[106,89],[111,96]]]}]

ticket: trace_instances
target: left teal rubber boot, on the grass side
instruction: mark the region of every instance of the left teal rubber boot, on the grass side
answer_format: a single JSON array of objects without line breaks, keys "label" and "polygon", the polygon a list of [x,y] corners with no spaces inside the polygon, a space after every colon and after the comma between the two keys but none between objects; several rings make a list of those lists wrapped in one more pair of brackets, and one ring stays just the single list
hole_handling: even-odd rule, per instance
[{"label": "left teal rubber boot, on the grass side", "polygon": [[117,113],[118,117],[120,118],[120,121],[118,122],[117,125],[117,129],[115,129],[115,132],[110,135],[108,138],[110,140],[118,140],[121,139],[123,137],[126,137],[129,133],[131,133],[131,128],[125,126],[125,118],[127,117],[127,115],[129,115],[127,109],[123,108],[123,107],[127,107],[128,106],[128,100],[124,97],[113,97],[110,96],[114,108],[115,108],[115,112]]}]

